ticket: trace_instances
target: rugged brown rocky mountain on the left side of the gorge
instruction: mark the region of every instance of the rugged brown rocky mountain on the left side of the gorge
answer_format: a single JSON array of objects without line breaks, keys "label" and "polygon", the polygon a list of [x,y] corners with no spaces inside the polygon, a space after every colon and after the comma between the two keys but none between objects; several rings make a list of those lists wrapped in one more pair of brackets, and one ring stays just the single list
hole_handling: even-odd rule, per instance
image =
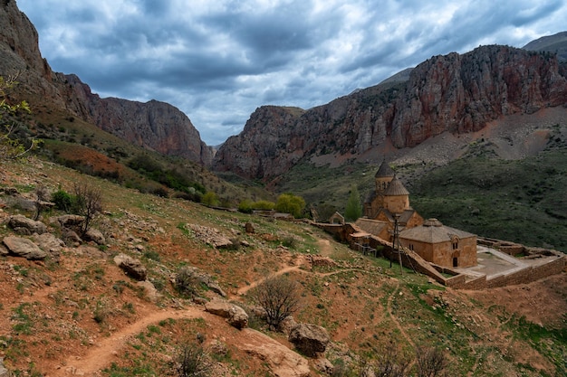
[{"label": "rugged brown rocky mountain on the left side of the gorge", "polygon": [[59,108],[134,145],[211,164],[213,148],[178,108],[156,100],[101,99],[77,76],[53,72],[39,51],[34,25],[14,1],[0,5],[0,72],[19,72],[19,96],[33,106]]}]

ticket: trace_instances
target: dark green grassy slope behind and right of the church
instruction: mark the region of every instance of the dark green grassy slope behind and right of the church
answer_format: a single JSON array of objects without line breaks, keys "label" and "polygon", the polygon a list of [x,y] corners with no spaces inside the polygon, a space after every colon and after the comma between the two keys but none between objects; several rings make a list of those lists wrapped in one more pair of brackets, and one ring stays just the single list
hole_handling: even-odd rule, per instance
[{"label": "dark green grassy slope behind and right of the church", "polygon": [[567,149],[521,161],[461,159],[409,189],[425,217],[485,237],[567,251]]}]

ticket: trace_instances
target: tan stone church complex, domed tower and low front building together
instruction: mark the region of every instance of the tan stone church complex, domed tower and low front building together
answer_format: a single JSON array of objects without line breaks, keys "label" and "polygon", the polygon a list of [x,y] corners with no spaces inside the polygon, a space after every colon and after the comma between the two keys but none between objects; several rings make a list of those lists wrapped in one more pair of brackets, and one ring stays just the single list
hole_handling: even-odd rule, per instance
[{"label": "tan stone church complex, domed tower and low front building together", "polygon": [[393,241],[396,219],[399,243],[430,263],[447,268],[476,266],[476,235],[424,221],[409,205],[409,192],[386,161],[374,175],[375,187],[364,201],[364,217],[356,221],[363,231]]}]

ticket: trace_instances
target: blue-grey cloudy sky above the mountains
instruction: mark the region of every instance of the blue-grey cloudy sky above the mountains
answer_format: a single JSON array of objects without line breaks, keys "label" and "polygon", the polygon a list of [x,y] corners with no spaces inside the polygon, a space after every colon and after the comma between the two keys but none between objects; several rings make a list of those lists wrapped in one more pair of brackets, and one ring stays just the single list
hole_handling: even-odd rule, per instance
[{"label": "blue-grey cloudy sky above the mountains", "polygon": [[312,108],[433,55],[567,30],[564,0],[17,0],[53,71],[181,109],[208,145],[262,105]]}]

